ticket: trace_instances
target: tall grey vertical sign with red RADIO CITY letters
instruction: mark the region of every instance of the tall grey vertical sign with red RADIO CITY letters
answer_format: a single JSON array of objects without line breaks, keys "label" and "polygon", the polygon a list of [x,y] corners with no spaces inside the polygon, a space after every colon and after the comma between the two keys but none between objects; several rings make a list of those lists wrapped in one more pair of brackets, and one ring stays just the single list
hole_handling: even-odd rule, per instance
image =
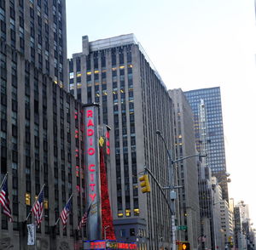
[{"label": "tall grey vertical sign with red RADIO CITY letters", "polygon": [[90,241],[102,238],[98,109],[98,105],[84,105],[86,206],[89,207],[91,204],[87,223],[87,236]]}]

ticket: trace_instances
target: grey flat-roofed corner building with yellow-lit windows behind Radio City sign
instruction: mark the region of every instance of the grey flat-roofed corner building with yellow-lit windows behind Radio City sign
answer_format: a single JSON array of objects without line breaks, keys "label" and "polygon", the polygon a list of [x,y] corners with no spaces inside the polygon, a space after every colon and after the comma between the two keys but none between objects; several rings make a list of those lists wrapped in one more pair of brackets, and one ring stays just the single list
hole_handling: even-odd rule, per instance
[{"label": "grey flat-roofed corner building with yellow-lit windows behind Radio City sign", "polygon": [[[70,93],[83,103],[100,103],[100,120],[111,128],[108,182],[115,234],[141,249],[168,248],[170,214],[160,190],[149,179],[143,194],[138,178],[147,166],[168,184],[167,156],[155,134],[172,146],[172,99],[133,34],[89,42],[69,60]],[[169,249],[169,248],[168,248]]]}]

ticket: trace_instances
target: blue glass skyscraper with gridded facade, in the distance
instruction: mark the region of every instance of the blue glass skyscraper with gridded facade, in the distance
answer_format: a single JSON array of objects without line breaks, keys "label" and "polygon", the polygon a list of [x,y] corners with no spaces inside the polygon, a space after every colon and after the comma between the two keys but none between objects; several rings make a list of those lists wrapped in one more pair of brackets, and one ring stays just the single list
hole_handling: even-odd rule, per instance
[{"label": "blue glass skyscraper with gridded facade, in the distance", "polygon": [[[220,88],[202,88],[184,92],[195,116],[195,139],[198,151],[201,151],[201,129],[207,133],[207,166],[212,169],[212,175],[218,178],[223,190],[223,198],[229,201],[226,178],[226,161],[224,149],[224,128]],[[206,111],[204,128],[201,128],[200,105],[203,103]]]}]

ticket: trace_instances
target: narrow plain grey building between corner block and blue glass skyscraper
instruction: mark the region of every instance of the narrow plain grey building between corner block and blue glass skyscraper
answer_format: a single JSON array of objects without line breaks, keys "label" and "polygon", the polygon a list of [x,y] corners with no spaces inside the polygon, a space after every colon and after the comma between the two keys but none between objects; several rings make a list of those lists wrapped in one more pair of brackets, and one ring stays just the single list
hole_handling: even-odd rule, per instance
[{"label": "narrow plain grey building between corner block and blue glass skyscraper", "polygon": [[[180,88],[168,92],[173,101],[175,159],[196,155],[193,112]],[[190,249],[197,249],[201,234],[197,161],[191,157],[177,162],[177,185],[182,186],[178,189],[178,225],[187,226],[177,231],[177,240],[189,241]]]}]

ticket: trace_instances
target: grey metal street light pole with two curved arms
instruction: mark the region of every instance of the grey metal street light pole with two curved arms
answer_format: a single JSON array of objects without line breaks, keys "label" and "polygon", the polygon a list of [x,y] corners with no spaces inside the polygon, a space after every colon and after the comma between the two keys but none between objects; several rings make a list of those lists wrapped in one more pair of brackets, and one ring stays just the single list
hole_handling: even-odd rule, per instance
[{"label": "grey metal street light pole with two curved arms", "polygon": [[[177,194],[175,189],[177,188],[174,186],[174,168],[173,165],[176,162],[181,162],[185,159],[188,159],[190,157],[195,157],[195,156],[202,156],[200,154],[196,155],[191,155],[191,156],[185,156],[183,158],[179,158],[177,160],[172,160],[172,155],[171,155],[171,150],[168,150],[168,147],[166,145],[166,140],[164,139],[163,135],[159,130],[155,132],[158,136],[160,136],[160,139],[164,142],[166,151],[167,151],[167,156],[168,156],[168,168],[169,168],[169,186],[164,188],[164,189],[169,189],[170,190],[170,198],[171,198],[171,226],[172,226],[172,250],[176,250],[176,226],[175,226],[175,217],[176,217],[176,207],[175,207],[175,200],[177,199]],[[205,156],[203,156],[205,157]]]}]

